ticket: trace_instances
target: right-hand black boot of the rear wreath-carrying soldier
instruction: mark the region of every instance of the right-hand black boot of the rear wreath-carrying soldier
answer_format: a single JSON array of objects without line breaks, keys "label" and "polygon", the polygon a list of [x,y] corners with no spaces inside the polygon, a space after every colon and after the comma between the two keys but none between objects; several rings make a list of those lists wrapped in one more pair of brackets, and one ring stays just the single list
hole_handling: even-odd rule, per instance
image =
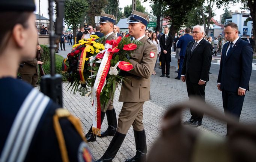
[{"label": "right-hand black boot of the rear wreath-carrying soldier", "polygon": [[107,115],[107,121],[108,121],[108,128],[99,137],[113,136],[116,133],[116,128],[117,128],[116,111],[114,109],[107,110],[106,115]]}]

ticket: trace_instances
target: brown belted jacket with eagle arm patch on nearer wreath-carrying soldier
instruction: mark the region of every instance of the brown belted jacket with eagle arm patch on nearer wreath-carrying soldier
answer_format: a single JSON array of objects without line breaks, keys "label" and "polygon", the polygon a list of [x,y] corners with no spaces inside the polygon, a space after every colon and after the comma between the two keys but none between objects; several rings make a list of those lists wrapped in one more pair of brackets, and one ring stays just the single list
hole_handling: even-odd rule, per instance
[{"label": "brown belted jacket with eagle arm patch on nearer wreath-carrying soldier", "polygon": [[150,99],[150,76],[154,71],[157,59],[157,46],[148,37],[143,37],[144,45],[131,54],[131,64],[134,69],[129,71],[132,76],[126,76],[122,82],[120,102],[145,102]]}]

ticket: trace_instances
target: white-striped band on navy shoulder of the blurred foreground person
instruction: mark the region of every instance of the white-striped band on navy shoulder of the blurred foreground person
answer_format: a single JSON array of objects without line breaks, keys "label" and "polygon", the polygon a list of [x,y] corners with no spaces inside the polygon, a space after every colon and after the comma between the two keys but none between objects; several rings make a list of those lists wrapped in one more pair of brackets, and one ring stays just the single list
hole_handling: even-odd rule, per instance
[{"label": "white-striped band on navy shoulder of the blurred foreground person", "polygon": [[[11,131],[6,140],[5,154],[1,156],[1,161],[22,162],[26,158],[27,150],[37,128],[38,122],[47,107],[50,98],[33,89],[23,102]],[[9,137],[10,136],[10,137]],[[10,142],[9,139],[12,141]],[[7,143],[9,141],[9,143]],[[3,150],[4,150],[3,149]],[[6,152],[7,151],[7,152]]]}]

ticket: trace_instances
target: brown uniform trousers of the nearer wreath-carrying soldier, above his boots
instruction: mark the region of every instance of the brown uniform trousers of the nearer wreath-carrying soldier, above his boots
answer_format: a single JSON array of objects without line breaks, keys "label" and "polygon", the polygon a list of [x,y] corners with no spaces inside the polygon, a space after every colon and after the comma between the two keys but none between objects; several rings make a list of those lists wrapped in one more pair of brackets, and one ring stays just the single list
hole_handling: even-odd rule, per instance
[{"label": "brown uniform trousers of the nearer wreath-carrying soldier, above his boots", "polygon": [[143,104],[144,102],[124,102],[119,113],[117,132],[127,134],[131,125],[136,131],[143,131]]}]

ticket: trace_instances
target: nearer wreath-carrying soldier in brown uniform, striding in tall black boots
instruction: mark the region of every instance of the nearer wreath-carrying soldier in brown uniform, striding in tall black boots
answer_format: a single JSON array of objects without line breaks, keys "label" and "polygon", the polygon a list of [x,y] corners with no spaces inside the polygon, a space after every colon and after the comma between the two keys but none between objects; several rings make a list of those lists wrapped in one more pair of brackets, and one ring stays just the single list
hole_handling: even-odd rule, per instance
[{"label": "nearer wreath-carrying soldier in brown uniform, striding in tall black boots", "polygon": [[126,162],[146,161],[147,145],[143,126],[143,104],[150,98],[150,76],[157,59],[157,47],[145,36],[145,29],[149,16],[133,10],[127,19],[129,33],[136,40],[144,43],[130,56],[134,69],[125,72],[125,81],[122,82],[119,101],[123,107],[118,118],[116,134],[112,138],[106,152],[98,162],[111,162],[123,143],[131,125],[133,125],[136,143],[136,155]]}]

